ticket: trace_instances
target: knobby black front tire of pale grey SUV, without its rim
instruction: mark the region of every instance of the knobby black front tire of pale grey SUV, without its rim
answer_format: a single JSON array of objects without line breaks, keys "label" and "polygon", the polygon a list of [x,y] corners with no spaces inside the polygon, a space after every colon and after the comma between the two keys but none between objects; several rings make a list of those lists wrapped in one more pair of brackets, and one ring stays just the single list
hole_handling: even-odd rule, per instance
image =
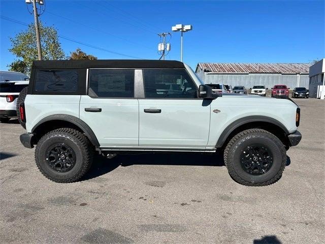
[{"label": "knobby black front tire of pale grey SUV, without its rim", "polygon": [[[262,175],[247,173],[241,166],[240,154],[247,145],[261,143],[270,148],[273,164],[269,171]],[[283,143],[275,135],[262,129],[249,129],[235,135],[224,149],[224,164],[232,178],[245,186],[267,186],[281,178],[286,164],[286,150]]]}]

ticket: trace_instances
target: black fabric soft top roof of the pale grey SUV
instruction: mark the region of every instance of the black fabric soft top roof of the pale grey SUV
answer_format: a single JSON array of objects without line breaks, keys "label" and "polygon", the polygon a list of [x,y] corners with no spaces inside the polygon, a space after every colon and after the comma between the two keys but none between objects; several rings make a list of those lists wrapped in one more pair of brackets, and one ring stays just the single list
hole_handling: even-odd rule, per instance
[{"label": "black fabric soft top roof of the pale grey SUV", "polygon": [[86,69],[86,68],[134,68],[134,69],[182,69],[184,64],[174,60],[35,60],[32,68],[39,69]]}]

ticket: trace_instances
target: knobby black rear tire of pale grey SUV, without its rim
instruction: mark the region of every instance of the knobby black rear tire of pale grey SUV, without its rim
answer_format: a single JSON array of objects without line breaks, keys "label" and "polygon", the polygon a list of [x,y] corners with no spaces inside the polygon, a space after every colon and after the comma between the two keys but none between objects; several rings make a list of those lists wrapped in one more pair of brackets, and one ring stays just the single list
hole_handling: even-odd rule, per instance
[{"label": "knobby black rear tire of pale grey SUV, without its rim", "polygon": [[[46,158],[47,149],[55,143],[66,143],[76,156],[76,164],[68,172],[53,170]],[[81,132],[71,128],[60,128],[45,134],[35,149],[36,165],[48,179],[58,183],[70,183],[79,180],[89,170],[93,158],[93,146]]]}]

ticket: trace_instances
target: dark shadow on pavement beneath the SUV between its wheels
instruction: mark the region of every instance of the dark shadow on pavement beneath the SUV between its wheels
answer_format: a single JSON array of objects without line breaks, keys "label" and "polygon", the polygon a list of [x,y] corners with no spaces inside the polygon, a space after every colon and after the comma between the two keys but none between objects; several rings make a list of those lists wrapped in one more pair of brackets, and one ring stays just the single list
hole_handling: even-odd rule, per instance
[{"label": "dark shadow on pavement beneath the SUV between its wheels", "polygon": [[136,155],[117,155],[106,159],[95,155],[88,173],[81,179],[87,180],[109,173],[118,166],[131,165],[192,165],[192,166],[224,166],[220,154],[210,153],[150,153]]}]

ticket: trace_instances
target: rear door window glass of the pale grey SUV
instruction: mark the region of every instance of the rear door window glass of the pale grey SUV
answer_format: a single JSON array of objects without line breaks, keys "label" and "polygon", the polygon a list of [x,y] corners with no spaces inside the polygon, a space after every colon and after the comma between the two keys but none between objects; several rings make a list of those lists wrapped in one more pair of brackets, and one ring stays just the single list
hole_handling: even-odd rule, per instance
[{"label": "rear door window glass of the pale grey SUV", "polygon": [[89,96],[91,96],[90,91],[91,93],[94,93],[97,97],[133,98],[134,70],[89,70]]}]

